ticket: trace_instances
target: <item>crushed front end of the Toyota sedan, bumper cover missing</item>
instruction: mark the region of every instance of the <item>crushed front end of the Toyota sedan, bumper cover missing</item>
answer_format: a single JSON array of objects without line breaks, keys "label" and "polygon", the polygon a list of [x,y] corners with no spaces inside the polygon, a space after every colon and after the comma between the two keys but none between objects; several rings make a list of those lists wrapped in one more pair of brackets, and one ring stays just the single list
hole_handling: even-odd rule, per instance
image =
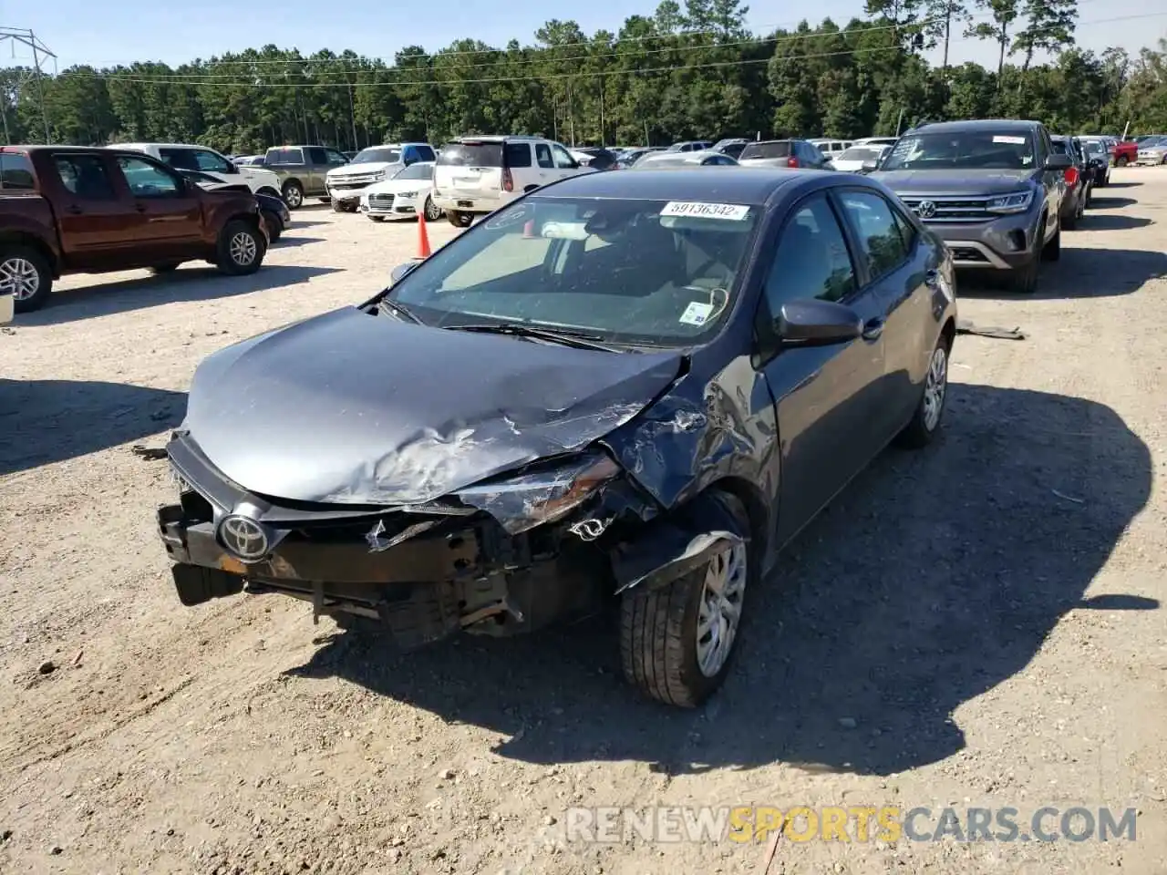
[{"label": "crushed front end of the Toyota sedan, bumper cover missing", "polygon": [[594,612],[616,588],[606,545],[657,512],[602,454],[379,506],[250,494],[189,434],[167,453],[180,497],[158,524],[183,604],[281,593],[310,601],[314,616],[379,623],[403,649]]}]

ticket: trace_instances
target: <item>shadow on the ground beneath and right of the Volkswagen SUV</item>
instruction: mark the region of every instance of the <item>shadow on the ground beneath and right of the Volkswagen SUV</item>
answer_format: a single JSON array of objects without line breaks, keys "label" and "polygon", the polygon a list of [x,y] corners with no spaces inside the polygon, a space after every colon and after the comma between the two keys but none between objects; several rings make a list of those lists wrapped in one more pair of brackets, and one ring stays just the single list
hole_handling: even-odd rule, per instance
[{"label": "shadow on the ground beneath and right of the Volkswagen SUV", "polygon": [[[1083,230],[1098,228],[1086,224],[1103,217],[1091,217]],[[1067,231],[1063,243],[1072,239]],[[1032,295],[1009,289],[1004,271],[963,272],[958,275],[963,298],[1002,298],[1013,301],[1057,300],[1072,298],[1110,298],[1138,292],[1149,280],[1167,276],[1167,253],[1151,250],[1104,250],[1063,246],[1057,261],[1041,266],[1037,292]]]}]

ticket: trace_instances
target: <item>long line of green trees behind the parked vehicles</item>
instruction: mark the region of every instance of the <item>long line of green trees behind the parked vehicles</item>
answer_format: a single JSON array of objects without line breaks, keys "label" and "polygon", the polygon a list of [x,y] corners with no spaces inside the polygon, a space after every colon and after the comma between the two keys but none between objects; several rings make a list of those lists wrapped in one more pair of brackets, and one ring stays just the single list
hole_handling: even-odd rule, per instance
[{"label": "long line of green trees behind the parked vehicles", "polygon": [[[390,62],[265,46],[169,66],[0,70],[7,142],[282,142],[344,149],[531,133],[573,144],[894,134],[950,118],[1058,132],[1167,132],[1167,42],[1137,57],[1075,46],[1077,0],[867,0],[865,19],[750,33],[742,0],[664,0],[617,33],[553,20],[533,44],[466,38]],[[1147,15],[1149,18],[1149,15]],[[1090,22],[1082,22],[1089,24]],[[998,64],[949,65],[984,40]],[[924,55],[943,58],[929,64]],[[1048,57],[1034,63],[1035,57]]]}]

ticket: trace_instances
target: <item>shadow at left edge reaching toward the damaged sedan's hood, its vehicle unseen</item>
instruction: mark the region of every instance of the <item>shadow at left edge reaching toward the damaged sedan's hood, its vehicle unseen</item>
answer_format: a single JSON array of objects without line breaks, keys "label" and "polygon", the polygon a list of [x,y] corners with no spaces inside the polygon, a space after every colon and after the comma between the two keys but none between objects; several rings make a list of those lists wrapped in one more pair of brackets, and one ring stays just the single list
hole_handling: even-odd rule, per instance
[{"label": "shadow at left edge reaching toward the damaged sedan's hood, its vehicle unseen", "polygon": [[125,383],[0,379],[0,475],[174,428],[186,392]]}]

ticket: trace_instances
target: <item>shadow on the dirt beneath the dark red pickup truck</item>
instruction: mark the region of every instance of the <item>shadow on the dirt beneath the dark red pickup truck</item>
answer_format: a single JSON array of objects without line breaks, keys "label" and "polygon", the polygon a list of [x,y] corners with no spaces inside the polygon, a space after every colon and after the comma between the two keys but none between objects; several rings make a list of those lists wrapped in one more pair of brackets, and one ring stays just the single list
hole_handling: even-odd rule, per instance
[{"label": "shadow on the dirt beneath the dark red pickup truck", "polygon": [[40,310],[21,313],[18,328],[79,322],[96,316],[128,313],[146,307],[162,307],[182,301],[212,301],[235,298],[267,288],[305,282],[314,276],[335,273],[337,267],[301,267],[265,265],[247,276],[228,276],[215,267],[183,267],[155,276],[144,273],[133,280],[85,286],[56,292]]}]

